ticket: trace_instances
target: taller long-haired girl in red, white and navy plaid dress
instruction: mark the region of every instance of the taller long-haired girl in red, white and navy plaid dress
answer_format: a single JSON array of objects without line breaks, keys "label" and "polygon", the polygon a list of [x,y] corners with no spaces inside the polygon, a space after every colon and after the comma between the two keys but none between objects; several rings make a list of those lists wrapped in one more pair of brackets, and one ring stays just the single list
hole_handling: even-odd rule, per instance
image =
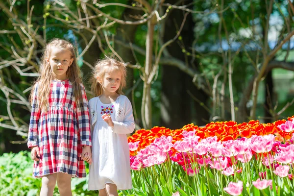
[{"label": "taller long-haired girl in red, white and navy plaid dress", "polygon": [[33,176],[42,177],[40,196],[72,196],[71,178],[85,177],[91,164],[88,101],[73,45],[54,39],[45,48],[40,76],[31,91],[28,143]]}]

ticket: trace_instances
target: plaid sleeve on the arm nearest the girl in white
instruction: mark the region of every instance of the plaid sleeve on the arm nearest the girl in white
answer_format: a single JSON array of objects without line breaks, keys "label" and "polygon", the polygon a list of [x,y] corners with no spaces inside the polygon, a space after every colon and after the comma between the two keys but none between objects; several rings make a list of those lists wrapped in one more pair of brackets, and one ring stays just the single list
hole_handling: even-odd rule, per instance
[{"label": "plaid sleeve on the arm nearest the girl in white", "polygon": [[86,96],[85,87],[81,85],[81,93],[83,98],[83,105],[77,104],[76,117],[78,124],[78,131],[80,134],[82,146],[92,146],[91,132],[90,132],[90,116],[88,110],[88,99]]}]

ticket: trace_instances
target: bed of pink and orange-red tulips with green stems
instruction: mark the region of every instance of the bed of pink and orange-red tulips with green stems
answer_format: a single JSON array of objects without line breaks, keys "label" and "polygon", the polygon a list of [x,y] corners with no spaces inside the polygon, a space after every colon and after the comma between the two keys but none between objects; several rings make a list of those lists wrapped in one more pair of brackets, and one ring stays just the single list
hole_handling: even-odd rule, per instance
[{"label": "bed of pink and orange-red tulips with green stems", "polygon": [[294,116],[153,127],[128,138],[133,190],[140,196],[293,196]]}]

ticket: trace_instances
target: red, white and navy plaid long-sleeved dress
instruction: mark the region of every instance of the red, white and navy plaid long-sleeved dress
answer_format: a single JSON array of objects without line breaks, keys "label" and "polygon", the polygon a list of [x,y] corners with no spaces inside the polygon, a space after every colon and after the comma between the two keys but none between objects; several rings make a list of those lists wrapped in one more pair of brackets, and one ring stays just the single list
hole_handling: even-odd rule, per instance
[{"label": "red, white and navy plaid long-sleeved dress", "polygon": [[27,146],[38,146],[40,161],[34,161],[33,176],[63,172],[86,177],[82,146],[90,146],[88,100],[81,85],[83,106],[75,102],[71,81],[51,82],[48,112],[38,107],[37,88],[33,94]]}]

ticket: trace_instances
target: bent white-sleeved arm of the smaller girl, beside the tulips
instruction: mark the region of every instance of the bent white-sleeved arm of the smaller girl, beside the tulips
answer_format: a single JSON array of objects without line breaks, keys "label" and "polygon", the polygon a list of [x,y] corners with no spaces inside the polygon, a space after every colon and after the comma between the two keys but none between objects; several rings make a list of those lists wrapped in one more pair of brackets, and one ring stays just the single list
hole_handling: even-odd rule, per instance
[{"label": "bent white-sleeved arm of the smaller girl, beside the tulips", "polygon": [[128,98],[126,98],[125,112],[123,122],[113,121],[112,132],[128,134],[132,133],[135,129],[135,121],[133,116],[132,104]]}]

